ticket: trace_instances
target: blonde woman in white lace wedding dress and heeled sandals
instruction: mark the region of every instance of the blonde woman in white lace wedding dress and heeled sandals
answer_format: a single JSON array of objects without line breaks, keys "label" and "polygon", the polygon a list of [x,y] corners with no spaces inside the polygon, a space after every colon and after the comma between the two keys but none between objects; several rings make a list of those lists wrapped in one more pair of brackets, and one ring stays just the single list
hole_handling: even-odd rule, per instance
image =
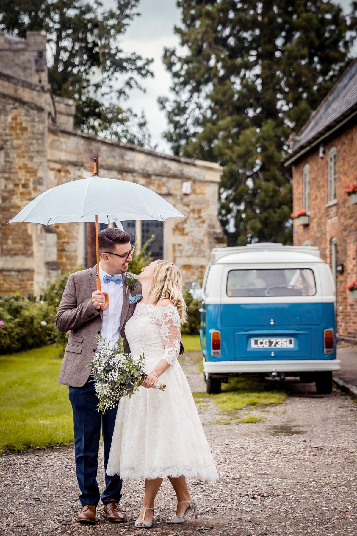
[{"label": "blonde woman in white lace wedding dress and heeled sandals", "polygon": [[[180,324],[186,320],[179,269],[156,260],[138,276],[142,299],[125,326],[134,356],[144,354],[148,376],[132,398],[120,400],[107,473],[145,479],[145,496],[136,527],[149,528],[156,494],[168,477],[177,495],[176,515],[183,523],[198,503],[186,478],[217,480],[218,474],[187,379],[177,361]],[[160,381],[165,391],[155,388]]]}]

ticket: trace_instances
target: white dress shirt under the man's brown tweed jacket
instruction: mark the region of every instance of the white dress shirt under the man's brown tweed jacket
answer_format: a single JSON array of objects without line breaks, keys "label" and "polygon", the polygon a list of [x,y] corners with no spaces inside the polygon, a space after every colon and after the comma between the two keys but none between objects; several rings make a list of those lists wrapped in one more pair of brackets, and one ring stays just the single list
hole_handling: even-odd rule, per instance
[{"label": "white dress shirt under the man's brown tweed jacket", "polygon": [[[118,285],[114,281],[103,282],[104,276],[110,276],[107,272],[104,272],[102,266],[99,265],[99,277],[101,280],[101,289],[106,292],[109,297],[109,306],[103,310],[103,324],[101,330],[101,336],[105,339],[107,344],[110,344],[112,348],[118,342],[120,337],[120,320],[121,310],[123,309],[123,286]],[[97,352],[101,350],[101,343],[97,344]]]}]

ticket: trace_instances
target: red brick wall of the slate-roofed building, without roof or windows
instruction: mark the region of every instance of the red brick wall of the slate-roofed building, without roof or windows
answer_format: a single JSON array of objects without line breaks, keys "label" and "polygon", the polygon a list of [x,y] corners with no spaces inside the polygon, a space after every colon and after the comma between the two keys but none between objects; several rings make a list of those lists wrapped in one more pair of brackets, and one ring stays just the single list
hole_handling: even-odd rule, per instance
[{"label": "red brick wall of the slate-roofed building, without roof or windows", "polygon": [[[337,152],[337,204],[328,204],[328,153]],[[337,275],[337,332],[357,338],[357,300],[352,300],[345,285],[357,279],[357,204],[351,205],[344,189],[357,179],[357,126],[350,125],[335,137],[325,140],[325,155],[318,147],[303,155],[293,166],[293,212],[302,209],[302,169],[310,166],[309,225],[294,224],[294,244],[310,241],[320,249],[321,257],[331,264],[332,237],[337,239],[337,264],[344,273]]]}]

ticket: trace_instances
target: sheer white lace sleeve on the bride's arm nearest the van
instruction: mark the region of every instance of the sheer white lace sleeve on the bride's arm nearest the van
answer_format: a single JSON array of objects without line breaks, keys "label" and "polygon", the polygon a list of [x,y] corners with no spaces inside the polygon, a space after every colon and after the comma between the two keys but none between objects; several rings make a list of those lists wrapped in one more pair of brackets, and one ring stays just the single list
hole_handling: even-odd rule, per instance
[{"label": "sheer white lace sleeve on the bride's arm nearest the van", "polygon": [[161,337],[164,339],[164,354],[162,359],[173,365],[180,352],[180,316],[173,305],[161,307],[157,323]]}]

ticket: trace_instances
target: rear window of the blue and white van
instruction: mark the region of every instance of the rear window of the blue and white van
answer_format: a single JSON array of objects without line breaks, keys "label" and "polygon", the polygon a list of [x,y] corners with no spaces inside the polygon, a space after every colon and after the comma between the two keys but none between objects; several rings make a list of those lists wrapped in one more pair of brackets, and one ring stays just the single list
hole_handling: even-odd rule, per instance
[{"label": "rear window of the blue and white van", "polygon": [[316,283],[309,268],[230,270],[227,296],[314,296]]}]

